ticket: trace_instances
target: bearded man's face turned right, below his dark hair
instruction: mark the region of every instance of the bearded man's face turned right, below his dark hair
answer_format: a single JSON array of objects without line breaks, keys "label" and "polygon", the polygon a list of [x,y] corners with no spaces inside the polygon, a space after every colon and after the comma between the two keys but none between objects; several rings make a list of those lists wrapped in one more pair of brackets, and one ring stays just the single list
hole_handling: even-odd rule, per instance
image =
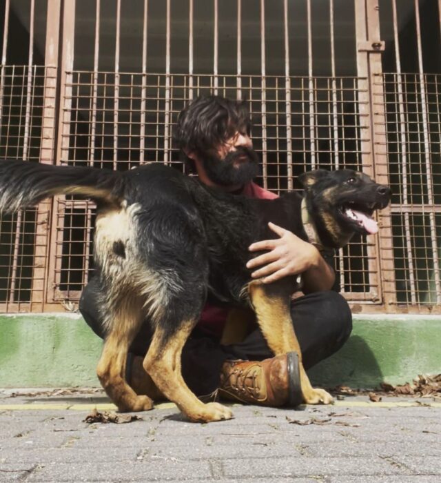
[{"label": "bearded man's face turned right, below his dark hair", "polygon": [[220,186],[243,185],[259,173],[252,141],[241,132],[203,156],[203,167],[210,181]]}]

